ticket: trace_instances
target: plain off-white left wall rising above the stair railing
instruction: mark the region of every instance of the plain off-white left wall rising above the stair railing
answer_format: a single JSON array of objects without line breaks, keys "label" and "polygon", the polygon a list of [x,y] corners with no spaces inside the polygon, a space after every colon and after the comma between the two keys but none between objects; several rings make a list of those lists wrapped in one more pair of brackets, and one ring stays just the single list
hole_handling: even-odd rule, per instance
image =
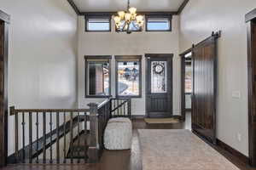
[{"label": "plain off-white left wall rising above the stair railing", "polygon": [[[77,107],[77,14],[63,0],[1,0],[9,26],[9,105]],[[15,149],[9,116],[9,155]]]}]

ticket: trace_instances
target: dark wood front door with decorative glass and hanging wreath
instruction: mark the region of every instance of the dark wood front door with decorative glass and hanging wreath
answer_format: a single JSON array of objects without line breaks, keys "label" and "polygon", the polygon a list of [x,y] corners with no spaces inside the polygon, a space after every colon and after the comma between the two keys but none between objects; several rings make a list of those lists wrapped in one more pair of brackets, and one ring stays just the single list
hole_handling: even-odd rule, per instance
[{"label": "dark wood front door with decorative glass and hanging wreath", "polygon": [[146,54],[148,117],[172,117],[172,56],[173,54]]}]

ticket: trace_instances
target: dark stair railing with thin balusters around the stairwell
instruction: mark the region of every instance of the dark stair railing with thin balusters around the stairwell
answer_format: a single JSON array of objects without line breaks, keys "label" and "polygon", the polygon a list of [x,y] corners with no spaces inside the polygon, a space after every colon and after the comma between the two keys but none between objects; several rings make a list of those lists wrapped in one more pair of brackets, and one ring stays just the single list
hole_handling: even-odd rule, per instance
[{"label": "dark stair railing with thin balusters around the stairwell", "polygon": [[106,99],[89,109],[15,109],[15,154],[9,163],[98,162],[112,117],[131,118],[131,99]]}]

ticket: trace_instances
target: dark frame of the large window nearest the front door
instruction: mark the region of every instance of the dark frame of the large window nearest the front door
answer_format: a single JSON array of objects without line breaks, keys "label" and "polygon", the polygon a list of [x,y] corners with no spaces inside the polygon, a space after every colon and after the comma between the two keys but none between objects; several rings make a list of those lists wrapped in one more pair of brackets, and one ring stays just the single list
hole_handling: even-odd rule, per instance
[{"label": "dark frame of the large window nearest the front door", "polygon": [[[142,98],[143,78],[142,78],[142,55],[115,55],[115,96],[116,98]],[[119,77],[118,77],[118,63],[119,62],[139,62],[139,94],[138,95],[119,95]]]}]

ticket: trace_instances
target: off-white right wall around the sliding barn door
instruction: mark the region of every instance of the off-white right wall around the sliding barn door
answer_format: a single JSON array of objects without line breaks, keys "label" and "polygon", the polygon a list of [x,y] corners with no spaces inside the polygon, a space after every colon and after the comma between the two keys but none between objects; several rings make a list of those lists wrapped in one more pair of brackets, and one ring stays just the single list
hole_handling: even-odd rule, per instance
[{"label": "off-white right wall around the sliding barn door", "polygon": [[[222,31],[218,40],[217,137],[248,156],[247,27],[255,0],[191,0],[180,16],[180,52]],[[239,91],[241,99],[233,99]],[[241,141],[238,136],[241,134]]]}]

